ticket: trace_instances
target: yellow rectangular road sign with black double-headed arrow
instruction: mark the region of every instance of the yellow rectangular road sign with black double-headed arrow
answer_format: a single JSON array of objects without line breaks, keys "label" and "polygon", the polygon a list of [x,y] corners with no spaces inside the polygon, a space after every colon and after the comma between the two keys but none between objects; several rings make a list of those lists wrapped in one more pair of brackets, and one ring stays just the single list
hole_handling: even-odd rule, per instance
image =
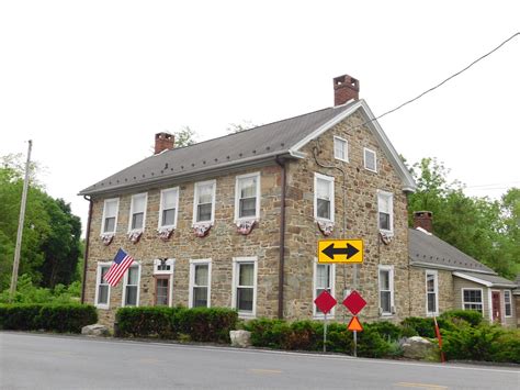
[{"label": "yellow rectangular road sign with black double-headed arrow", "polygon": [[318,263],[363,263],[363,239],[319,239]]}]

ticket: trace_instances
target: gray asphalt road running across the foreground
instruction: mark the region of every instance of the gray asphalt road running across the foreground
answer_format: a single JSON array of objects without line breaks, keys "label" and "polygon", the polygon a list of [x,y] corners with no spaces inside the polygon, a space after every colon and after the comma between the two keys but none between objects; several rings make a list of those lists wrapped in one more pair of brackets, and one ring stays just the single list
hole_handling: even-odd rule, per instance
[{"label": "gray asphalt road running across the foreground", "polygon": [[516,367],[0,332],[1,389],[520,389]]}]

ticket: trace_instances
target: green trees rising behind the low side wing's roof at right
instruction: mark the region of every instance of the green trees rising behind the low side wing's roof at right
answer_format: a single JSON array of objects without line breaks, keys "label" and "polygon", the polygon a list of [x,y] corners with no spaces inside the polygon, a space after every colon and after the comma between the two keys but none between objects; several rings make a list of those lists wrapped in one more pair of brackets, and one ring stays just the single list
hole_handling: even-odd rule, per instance
[{"label": "green trees rising behind the low side wing's roof at right", "polygon": [[[409,222],[412,212],[433,213],[433,233],[500,275],[512,278],[518,265],[513,246],[518,238],[507,234],[508,207],[488,198],[464,194],[459,181],[449,182],[449,170],[434,158],[423,158],[412,169],[417,191],[408,200]],[[515,192],[513,192],[515,193]],[[515,199],[515,194],[507,199]],[[515,203],[512,200],[507,203]],[[518,214],[517,214],[518,215]],[[513,225],[513,223],[509,223]]]}]

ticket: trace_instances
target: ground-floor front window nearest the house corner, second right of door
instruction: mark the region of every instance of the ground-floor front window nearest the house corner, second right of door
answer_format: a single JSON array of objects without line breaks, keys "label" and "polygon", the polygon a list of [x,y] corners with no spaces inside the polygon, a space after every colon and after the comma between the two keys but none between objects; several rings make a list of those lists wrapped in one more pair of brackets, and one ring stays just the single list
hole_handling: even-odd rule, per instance
[{"label": "ground-floor front window nearest the house corner, second right of door", "polygon": [[257,314],[257,257],[233,258],[233,303],[238,314],[253,317]]}]

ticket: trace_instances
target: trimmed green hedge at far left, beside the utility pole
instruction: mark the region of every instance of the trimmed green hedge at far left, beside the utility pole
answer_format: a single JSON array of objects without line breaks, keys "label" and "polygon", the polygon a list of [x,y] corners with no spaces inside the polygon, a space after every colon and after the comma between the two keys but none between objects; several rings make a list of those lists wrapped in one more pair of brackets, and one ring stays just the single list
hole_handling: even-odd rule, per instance
[{"label": "trimmed green hedge at far left, beside the utility pole", "polygon": [[95,308],[87,304],[0,304],[2,330],[81,333],[97,321]]}]

